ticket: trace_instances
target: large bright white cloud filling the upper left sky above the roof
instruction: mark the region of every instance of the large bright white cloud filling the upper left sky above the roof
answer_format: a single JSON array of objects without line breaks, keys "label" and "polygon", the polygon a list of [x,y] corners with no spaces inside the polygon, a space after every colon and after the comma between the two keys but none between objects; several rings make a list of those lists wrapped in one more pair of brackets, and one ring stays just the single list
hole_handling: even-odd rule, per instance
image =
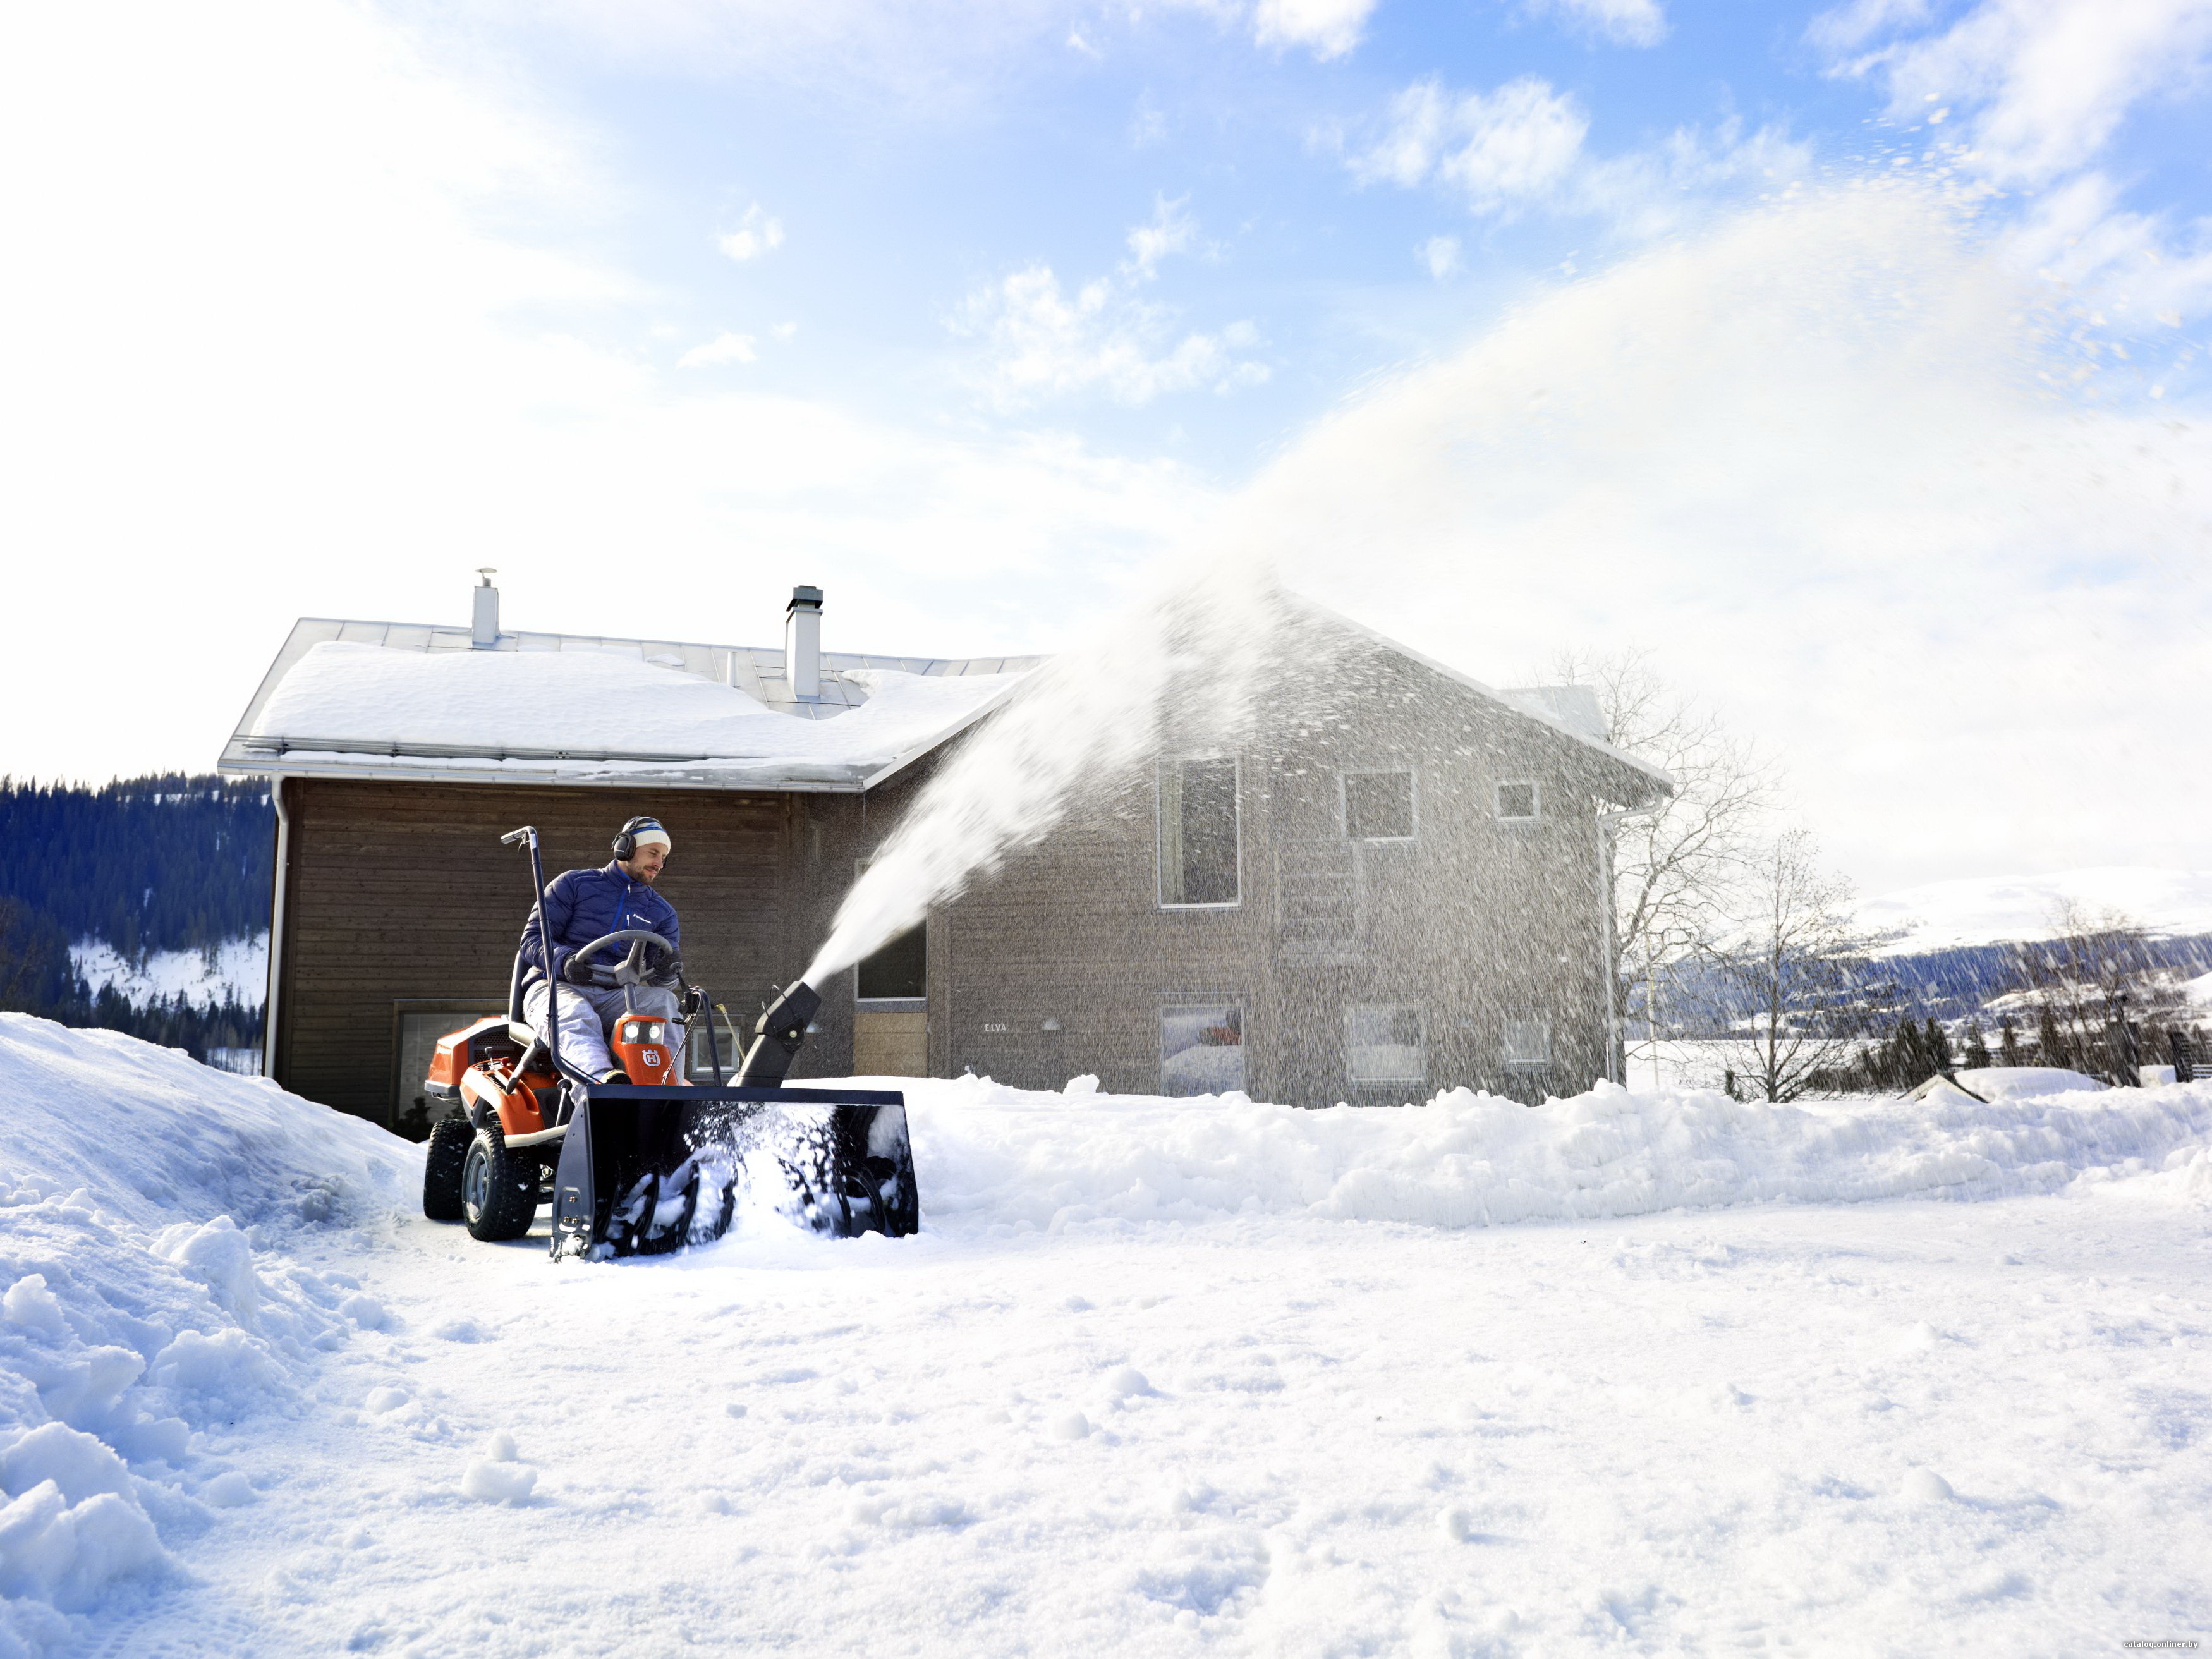
[{"label": "large bright white cloud filling the upper left sky above the roof", "polygon": [[[659,367],[664,292],[518,241],[622,212],[588,142],[352,0],[4,11],[0,155],[11,602],[102,580],[104,666],[84,628],[0,653],[0,703],[71,688],[9,730],[18,776],[204,768],[294,617],[465,619],[478,564],[520,626],[774,637],[803,568],[847,641],[1051,648],[1214,502]],[[653,577],[611,586],[608,546]]]}]

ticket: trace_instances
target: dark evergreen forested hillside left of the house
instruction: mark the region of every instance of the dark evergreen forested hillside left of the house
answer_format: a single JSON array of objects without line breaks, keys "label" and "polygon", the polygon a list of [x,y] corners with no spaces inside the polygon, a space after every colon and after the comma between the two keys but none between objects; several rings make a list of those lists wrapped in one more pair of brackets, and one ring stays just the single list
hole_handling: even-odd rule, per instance
[{"label": "dark evergreen forested hillside left of the house", "polygon": [[204,1055],[261,1042],[261,1006],[137,1004],[77,978],[69,947],[126,958],[268,929],[268,785],[164,774],[102,787],[0,779],[0,1009],[113,1026]]}]

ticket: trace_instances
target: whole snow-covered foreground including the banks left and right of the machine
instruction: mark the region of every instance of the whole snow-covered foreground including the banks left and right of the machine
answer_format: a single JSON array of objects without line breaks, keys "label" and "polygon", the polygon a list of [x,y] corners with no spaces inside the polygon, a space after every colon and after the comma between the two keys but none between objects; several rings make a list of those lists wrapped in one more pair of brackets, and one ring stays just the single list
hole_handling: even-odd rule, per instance
[{"label": "whole snow-covered foreground including the banks left and right of the machine", "polygon": [[922,1237],[599,1267],[113,1033],[0,1099],[0,1652],[2212,1635],[2208,1084],[914,1084]]}]

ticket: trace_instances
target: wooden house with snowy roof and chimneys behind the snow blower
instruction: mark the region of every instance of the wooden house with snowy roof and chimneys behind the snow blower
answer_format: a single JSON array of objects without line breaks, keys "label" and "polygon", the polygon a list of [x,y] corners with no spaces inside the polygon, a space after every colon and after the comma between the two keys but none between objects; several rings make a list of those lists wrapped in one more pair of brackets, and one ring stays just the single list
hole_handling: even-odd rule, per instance
[{"label": "wooden house with snowy roof and chimneys behind the snow blower", "polygon": [[[418,1126],[436,1037],[504,1006],[549,876],[650,812],[684,960],[737,1031],[796,978],[931,774],[1042,659],[303,619],[221,757],[276,801],[268,1075]],[[1314,606],[1232,741],[1175,714],[1035,845],[823,991],[794,1075],[1294,1104],[1617,1075],[1601,836],[1670,787],[1584,688],[1491,690]],[[1327,672],[1314,664],[1327,661]],[[695,1033],[706,1071],[706,1033]]]}]

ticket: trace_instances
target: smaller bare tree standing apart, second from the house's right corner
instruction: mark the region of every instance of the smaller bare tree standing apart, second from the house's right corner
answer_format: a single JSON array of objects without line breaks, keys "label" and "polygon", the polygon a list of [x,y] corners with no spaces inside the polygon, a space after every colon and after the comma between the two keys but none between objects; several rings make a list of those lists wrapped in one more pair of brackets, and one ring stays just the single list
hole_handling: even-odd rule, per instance
[{"label": "smaller bare tree standing apart, second from the house's right corner", "polygon": [[1856,1046],[1867,938],[1851,885],[1820,867],[1803,830],[1763,843],[1739,891],[1734,927],[1703,949],[1705,1013],[1754,1097],[1796,1099]]}]

